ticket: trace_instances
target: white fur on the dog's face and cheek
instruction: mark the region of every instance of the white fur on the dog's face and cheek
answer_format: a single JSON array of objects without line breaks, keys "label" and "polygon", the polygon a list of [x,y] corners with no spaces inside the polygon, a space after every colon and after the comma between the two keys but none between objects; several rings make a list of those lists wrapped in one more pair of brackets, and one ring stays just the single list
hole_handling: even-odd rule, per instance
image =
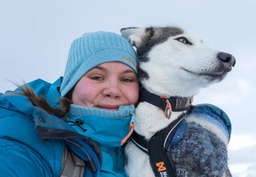
[{"label": "white fur on the dog's face and cheek", "polygon": [[[188,38],[194,45],[186,46],[174,40],[179,36]],[[179,36],[170,37],[150,51],[148,57],[157,60],[141,63],[142,69],[150,69],[150,78],[143,83],[150,91],[166,96],[194,96],[199,88],[211,84],[206,77],[198,77],[184,69],[193,73],[218,70],[218,51],[208,48],[201,39],[194,36]]]}]

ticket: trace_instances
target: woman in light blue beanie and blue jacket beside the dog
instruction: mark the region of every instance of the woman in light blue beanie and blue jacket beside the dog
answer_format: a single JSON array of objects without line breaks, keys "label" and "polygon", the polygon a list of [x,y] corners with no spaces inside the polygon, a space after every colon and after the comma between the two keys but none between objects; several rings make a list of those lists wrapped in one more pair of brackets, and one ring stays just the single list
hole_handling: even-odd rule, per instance
[{"label": "woman in light blue beanie and blue jacket beside the dog", "polygon": [[138,102],[136,67],[124,38],[86,33],[63,78],[28,84],[49,104],[27,86],[0,95],[0,176],[126,176],[121,142]]}]

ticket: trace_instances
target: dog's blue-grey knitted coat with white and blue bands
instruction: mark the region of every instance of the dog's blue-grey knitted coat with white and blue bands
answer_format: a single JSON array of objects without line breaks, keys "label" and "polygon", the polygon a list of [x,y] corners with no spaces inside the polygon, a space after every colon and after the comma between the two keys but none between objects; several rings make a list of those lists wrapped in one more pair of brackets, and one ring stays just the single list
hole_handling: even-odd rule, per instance
[{"label": "dog's blue-grey knitted coat with white and blue bands", "polygon": [[[207,106],[207,104],[202,105]],[[218,177],[224,176],[224,173],[228,174],[226,150],[230,140],[228,128],[220,117],[208,111],[209,109],[202,108],[202,105],[185,118],[186,132],[182,134],[178,144],[170,148],[169,154],[176,167],[177,177]]]}]

